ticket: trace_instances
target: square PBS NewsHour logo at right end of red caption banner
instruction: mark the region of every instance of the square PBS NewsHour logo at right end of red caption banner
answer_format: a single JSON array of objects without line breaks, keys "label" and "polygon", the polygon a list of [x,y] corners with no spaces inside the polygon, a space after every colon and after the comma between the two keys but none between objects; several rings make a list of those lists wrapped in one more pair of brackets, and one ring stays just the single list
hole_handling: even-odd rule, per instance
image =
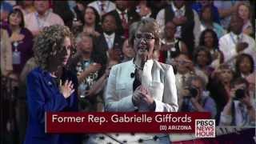
[{"label": "square PBS NewsHour logo at right end of red caption banner", "polygon": [[215,119],[196,119],[195,137],[215,138]]}]

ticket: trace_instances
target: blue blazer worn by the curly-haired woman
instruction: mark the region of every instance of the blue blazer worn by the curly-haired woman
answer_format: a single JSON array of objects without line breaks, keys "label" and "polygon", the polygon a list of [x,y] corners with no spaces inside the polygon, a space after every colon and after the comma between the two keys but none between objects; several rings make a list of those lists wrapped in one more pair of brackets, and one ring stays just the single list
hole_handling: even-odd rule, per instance
[{"label": "blue blazer worn by the curly-haired woman", "polygon": [[[78,80],[70,71],[63,69],[62,82],[72,80],[77,88]],[[50,73],[35,68],[27,76],[27,102],[29,107],[29,124],[26,129],[25,144],[73,144],[79,143],[76,134],[46,134],[45,112],[77,111],[77,90],[70,96],[64,96],[58,90],[58,84]]]}]

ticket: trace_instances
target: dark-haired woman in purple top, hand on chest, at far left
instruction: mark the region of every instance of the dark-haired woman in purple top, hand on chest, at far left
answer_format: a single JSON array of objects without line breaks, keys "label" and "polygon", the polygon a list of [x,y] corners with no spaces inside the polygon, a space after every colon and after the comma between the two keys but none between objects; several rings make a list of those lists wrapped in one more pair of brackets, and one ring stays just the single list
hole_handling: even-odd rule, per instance
[{"label": "dark-haired woman in purple top, hand on chest, at far left", "polygon": [[22,72],[26,61],[32,57],[33,35],[30,30],[25,28],[22,11],[14,9],[8,16],[10,42],[13,51],[13,76],[16,80]]}]

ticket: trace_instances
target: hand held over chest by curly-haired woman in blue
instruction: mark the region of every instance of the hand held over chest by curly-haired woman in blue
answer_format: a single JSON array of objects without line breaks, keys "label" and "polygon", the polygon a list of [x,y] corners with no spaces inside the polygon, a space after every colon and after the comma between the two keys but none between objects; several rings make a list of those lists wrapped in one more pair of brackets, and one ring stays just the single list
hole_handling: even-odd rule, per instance
[{"label": "hand held over chest by curly-haired woman in blue", "polygon": [[59,88],[64,98],[69,98],[70,95],[74,93],[73,86],[74,85],[72,81],[66,80],[63,86],[62,86],[62,80],[60,81]]}]

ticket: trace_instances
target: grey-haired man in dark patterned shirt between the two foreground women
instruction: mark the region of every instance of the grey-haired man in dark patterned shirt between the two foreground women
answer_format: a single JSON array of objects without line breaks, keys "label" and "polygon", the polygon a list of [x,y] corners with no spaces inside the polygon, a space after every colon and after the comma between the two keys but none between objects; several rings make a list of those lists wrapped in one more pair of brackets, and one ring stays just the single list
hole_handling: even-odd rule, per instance
[{"label": "grey-haired man in dark patterned shirt between the two foreground women", "polygon": [[78,54],[70,59],[69,68],[78,77],[79,109],[96,111],[95,95],[87,94],[91,86],[104,73],[102,56],[94,50],[93,39],[86,33],[78,35]]}]

